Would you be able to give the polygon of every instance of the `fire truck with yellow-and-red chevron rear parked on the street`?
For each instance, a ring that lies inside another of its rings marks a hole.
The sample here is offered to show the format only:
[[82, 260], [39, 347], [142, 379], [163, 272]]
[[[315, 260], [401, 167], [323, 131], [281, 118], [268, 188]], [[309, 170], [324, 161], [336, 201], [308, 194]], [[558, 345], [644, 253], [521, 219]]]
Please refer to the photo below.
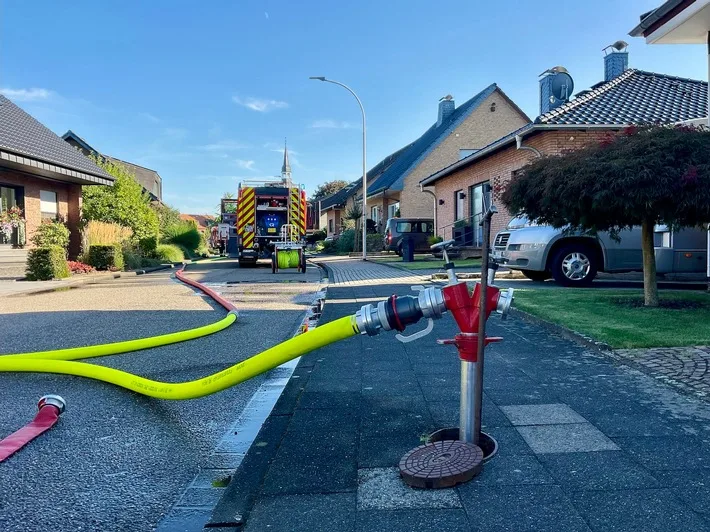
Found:
[[[278, 242], [300, 242], [306, 234], [306, 191], [290, 176], [243, 181], [237, 195], [239, 266], [269, 259]], [[284, 226], [286, 226], [284, 228]], [[285, 230], [284, 230], [285, 229]]]

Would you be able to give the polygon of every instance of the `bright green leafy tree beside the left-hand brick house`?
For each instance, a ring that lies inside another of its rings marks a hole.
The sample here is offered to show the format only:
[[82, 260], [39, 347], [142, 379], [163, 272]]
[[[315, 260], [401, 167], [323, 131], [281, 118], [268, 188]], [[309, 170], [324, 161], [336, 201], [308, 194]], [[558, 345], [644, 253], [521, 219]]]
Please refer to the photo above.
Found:
[[158, 215], [150, 206], [150, 196], [136, 181], [135, 175], [120, 163], [93, 156], [93, 161], [114, 177], [111, 187], [84, 187], [84, 221], [117, 223], [133, 230], [136, 239], [155, 235]]

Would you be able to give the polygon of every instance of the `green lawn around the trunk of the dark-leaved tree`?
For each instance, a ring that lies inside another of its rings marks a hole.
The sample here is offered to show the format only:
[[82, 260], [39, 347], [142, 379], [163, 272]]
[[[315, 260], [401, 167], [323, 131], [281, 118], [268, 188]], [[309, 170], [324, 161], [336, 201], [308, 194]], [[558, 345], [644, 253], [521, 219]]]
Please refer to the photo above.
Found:
[[614, 348], [710, 345], [710, 294], [661, 292], [661, 303], [681, 308], [644, 308], [641, 290], [522, 289], [514, 306], [605, 342]]

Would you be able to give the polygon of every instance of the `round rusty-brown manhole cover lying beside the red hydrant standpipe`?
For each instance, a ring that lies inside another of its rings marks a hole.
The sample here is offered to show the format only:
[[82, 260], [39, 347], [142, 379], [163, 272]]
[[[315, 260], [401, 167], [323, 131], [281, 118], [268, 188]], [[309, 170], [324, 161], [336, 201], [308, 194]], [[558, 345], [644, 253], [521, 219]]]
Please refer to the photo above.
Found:
[[413, 488], [450, 488], [468, 482], [482, 469], [481, 448], [458, 440], [420, 445], [399, 461], [402, 480]]

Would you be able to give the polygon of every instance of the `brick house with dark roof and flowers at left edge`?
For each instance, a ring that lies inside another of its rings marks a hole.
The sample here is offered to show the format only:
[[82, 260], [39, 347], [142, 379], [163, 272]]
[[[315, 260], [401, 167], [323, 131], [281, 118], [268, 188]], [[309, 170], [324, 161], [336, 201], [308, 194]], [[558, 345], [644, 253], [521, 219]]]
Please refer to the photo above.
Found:
[[[81, 187], [112, 184], [111, 175], [0, 96], [0, 211], [23, 209], [28, 247], [42, 220], [61, 219], [71, 231], [69, 254], [76, 256]], [[17, 238], [15, 231], [11, 242], [0, 243], [0, 262], [5, 265], [24, 264], [23, 251], [12, 249]]]

